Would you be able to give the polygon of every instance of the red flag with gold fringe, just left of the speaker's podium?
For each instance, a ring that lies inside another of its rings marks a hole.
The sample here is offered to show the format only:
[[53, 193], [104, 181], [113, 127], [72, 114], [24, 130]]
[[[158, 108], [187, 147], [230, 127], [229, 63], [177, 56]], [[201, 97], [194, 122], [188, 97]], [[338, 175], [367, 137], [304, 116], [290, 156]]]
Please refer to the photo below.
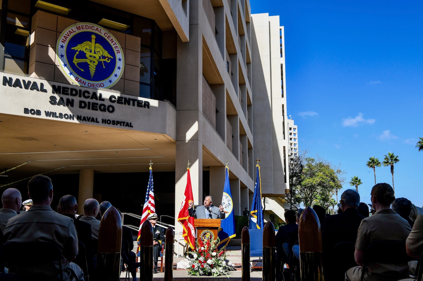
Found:
[[192, 196], [190, 168], [187, 168], [187, 170], [187, 187], [185, 187], [184, 198], [182, 199], [181, 209], [179, 210], [178, 222], [180, 222], [182, 224], [182, 227], [184, 228], [182, 237], [185, 238], [185, 241], [190, 246], [190, 248], [194, 249], [194, 217], [190, 216], [190, 214], [188, 213], [188, 204], [194, 202], [194, 197]]

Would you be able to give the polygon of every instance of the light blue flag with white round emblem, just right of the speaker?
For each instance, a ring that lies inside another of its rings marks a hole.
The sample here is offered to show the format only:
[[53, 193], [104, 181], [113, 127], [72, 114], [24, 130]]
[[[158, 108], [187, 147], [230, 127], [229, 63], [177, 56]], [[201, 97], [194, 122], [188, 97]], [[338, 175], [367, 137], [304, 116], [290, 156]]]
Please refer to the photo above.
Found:
[[233, 215], [233, 201], [231, 186], [229, 185], [229, 172], [228, 166], [226, 166], [226, 177], [225, 177], [225, 186], [223, 187], [223, 197], [222, 197], [222, 206], [225, 212], [225, 219], [220, 221], [221, 230], [217, 234], [220, 239], [218, 248], [222, 248], [228, 245], [229, 240], [236, 236], [235, 233], [235, 216]]

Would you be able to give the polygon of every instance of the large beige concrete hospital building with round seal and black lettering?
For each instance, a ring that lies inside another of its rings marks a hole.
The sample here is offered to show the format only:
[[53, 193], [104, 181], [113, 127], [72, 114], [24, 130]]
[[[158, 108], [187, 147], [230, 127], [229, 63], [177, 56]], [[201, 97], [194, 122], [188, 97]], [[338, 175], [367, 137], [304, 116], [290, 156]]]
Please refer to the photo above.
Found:
[[94, 197], [140, 214], [151, 161], [157, 213], [175, 217], [187, 163], [195, 204], [210, 194], [220, 205], [229, 162], [242, 215], [255, 159], [264, 197], [289, 188], [279, 16], [251, 15], [248, 0], [0, 3], [1, 189], [26, 194], [43, 173], [53, 179], [53, 205], [72, 194], [78, 213]]

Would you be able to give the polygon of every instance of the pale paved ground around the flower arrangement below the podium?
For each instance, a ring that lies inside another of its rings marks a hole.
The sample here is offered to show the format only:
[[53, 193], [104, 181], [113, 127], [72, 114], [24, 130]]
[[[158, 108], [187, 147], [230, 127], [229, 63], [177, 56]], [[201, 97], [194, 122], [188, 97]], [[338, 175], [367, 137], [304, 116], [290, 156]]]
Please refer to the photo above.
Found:
[[[234, 271], [231, 271], [230, 274], [228, 276], [219, 276], [219, 277], [213, 277], [213, 276], [202, 276], [202, 277], [198, 277], [198, 276], [191, 276], [188, 275], [188, 272], [186, 269], [174, 269], [173, 270], [173, 280], [174, 281], [204, 281], [205, 279], [207, 281], [238, 281], [241, 280], [241, 247], [228, 247], [227, 248], [229, 253], [228, 253], [228, 259], [230, 262], [232, 262], [235, 265], [235, 269]], [[179, 262], [181, 259], [181, 257], [174, 257], [173, 258], [173, 264], [175, 265], [173, 268], [176, 268], [176, 263]], [[251, 260], [253, 260], [254, 258], [251, 258]], [[159, 262], [160, 265], [160, 262]], [[160, 270], [160, 268], [159, 268]], [[121, 280], [125, 279], [125, 273], [126, 272], [122, 272], [121, 273]], [[129, 274], [130, 275], [130, 274]], [[254, 270], [253, 272], [250, 273], [250, 280], [251, 281], [259, 281], [262, 280], [262, 272], [261, 271], [257, 271]], [[162, 281], [164, 280], [165, 277], [165, 273], [157, 273], [153, 275], [153, 279], [157, 280], [157, 281]], [[139, 273], [137, 274], [137, 278], [139, 280]], [[132, 281], [132, 278], [129, 279], [130, 281]]]

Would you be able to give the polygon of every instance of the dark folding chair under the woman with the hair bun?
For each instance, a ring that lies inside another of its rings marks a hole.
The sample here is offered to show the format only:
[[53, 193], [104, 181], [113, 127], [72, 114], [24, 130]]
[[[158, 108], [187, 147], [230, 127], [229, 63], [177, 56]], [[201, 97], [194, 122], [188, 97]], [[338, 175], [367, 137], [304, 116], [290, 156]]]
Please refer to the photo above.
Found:
[[[384, 241], [376, 242], [367, 247], [364, 252], [363, 270], [361, 272], [361, 281], [364, 279], [364, 273], [372, 262], [380, 262], [389, 265], [407, 263], [412, 260], [405, 249], [405, 241]], [[394, 275], [393, 273], [391, 273]], [[402, 276], [392, 276], [400, 279]]]

